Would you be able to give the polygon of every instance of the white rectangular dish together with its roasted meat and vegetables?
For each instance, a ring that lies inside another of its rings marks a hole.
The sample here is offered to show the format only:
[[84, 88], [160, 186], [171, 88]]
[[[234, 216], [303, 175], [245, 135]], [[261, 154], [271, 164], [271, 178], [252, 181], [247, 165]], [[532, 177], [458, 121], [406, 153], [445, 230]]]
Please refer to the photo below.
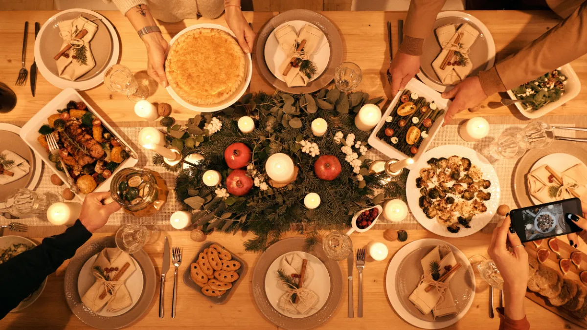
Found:
[[[46, 134], [59, 137], [59, 156], [49, 153]], [[69, 186], [59, 157], [64, 160], [80, 188], [77, 196], [82, 200], [87, 193], [109, 191], [113, 174], [138, 161], [136, 151], [71, 88], [63, 90], [39, 110], [22, 127], [21, 137]]]

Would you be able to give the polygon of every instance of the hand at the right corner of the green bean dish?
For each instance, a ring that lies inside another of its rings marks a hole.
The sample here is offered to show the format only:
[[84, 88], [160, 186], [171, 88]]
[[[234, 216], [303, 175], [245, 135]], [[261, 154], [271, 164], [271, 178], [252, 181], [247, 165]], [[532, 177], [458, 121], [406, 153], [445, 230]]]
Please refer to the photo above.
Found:
[[487, 99], [478, 76], [466, 78], [453, 89], [442, 93], [442, 97], [443, 99], [453, 99], [454, 97], [453, 102], [448, 106], [443, 126], [448, 124], [457, 113], [474, 107]]

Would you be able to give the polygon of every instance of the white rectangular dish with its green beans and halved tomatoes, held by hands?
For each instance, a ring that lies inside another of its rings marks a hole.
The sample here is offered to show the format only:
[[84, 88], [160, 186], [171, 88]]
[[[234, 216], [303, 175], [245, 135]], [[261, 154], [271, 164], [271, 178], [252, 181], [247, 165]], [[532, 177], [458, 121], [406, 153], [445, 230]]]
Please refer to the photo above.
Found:
[[449, 104], [436, 90], [412, 79], [394, 97], [371, 133], [369, 144], [391, 158], [411, 157], [411, 169], [440, 129]]

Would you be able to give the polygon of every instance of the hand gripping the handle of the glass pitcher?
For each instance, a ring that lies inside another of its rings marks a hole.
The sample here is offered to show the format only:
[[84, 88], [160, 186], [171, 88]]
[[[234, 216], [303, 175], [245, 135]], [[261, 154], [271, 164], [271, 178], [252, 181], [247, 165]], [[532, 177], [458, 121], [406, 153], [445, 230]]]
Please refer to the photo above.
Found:
[[119, 203], [102, 204], [102, 201], [108, 197], [110, 197], [110, 191], [104, 191], [103, 193], [87, 194], [86, 199], [83, 200], [79, 221], [90, 233], [104, 227], [110, 214], [120, 210]]

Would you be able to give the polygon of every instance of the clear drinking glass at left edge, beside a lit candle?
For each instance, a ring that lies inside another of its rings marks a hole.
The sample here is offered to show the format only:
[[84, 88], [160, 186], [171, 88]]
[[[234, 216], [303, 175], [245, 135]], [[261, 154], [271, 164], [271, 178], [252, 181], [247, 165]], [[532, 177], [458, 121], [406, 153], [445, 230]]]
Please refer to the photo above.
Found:
[[29, 218], [47, 210], [51, 204], [61, 201], [63, 198], [55, 191], [39, 194], [27, 188], [18, 188], [0, 203], [0, 209], [15, 217]]

